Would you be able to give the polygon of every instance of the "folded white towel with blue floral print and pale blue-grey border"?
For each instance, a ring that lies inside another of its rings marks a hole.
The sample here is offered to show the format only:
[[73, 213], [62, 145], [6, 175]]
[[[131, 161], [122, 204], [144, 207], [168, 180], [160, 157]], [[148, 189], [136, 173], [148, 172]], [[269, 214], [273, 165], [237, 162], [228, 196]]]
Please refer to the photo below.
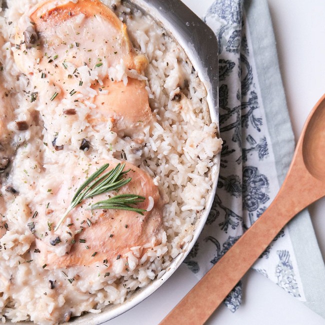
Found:
[[[266, 0], [216, 0], [205, 22], [219, 43], [223, 139], [218, 189], [185, 263], [200, 278], [274, 199], [294, 138]], [[274, 239], [253, 268], [325, 318], [325, 267], [307, 211]], [[235, 311], [240, 284], [226, 299]]]

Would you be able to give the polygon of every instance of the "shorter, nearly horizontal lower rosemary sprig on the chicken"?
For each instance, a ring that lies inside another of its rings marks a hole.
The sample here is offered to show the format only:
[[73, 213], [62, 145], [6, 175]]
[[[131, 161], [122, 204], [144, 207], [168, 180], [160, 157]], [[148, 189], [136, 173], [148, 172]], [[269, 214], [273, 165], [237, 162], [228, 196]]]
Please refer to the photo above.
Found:
[[144, 200], [145, 198], [143, 196], [139, 196], [135, 194], [115, 195], [107, 200], [99, 201], [97, 203], [92, 204], [86, 210], [120, 209], [120, 210], [134, 211], [143, 216], [143, 212], [145, 212], [146, 210], [134, 208], [132, 207], [132, 205], [141, 203]]

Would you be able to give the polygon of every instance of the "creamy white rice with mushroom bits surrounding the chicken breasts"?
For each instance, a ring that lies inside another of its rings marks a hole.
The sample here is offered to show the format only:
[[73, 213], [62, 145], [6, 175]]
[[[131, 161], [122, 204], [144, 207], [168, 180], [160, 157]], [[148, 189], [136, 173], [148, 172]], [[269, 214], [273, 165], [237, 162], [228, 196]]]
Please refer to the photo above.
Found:
[[[211, 189], [209, 171], [221, 140], [216, 138], [216, 125], [210, 122], [206, 90], [183, 50], [150, 17], [114, 0], [103, 2], [116, 6], [134, 48], [149, 62], [144, 76], [125, 69], [123, 62], [108, 67], [109, 77], [114, 80], [127, 82], [131, 77], [146, 82], [155, 119], [144, 129], [143, 141], [109, 131], [109, 123], [89, 127], [85, 116], [92, 104], [86, 100], [68, 123], [66, 115], [59, 112], [63, 107], [72, 107], [70, 99], [43, 107], [35, 123], [35, 112], [43, 103], [41, 99], [31, 102], [34, 85], [18, 70], [13, 52], [18, 20], [38, 1], [7, 2], [8, 8], [0, 15], [0, 81], [14, 108], [6, 132], [15, 152], [9, 174], [1, 174], [4, 204], [0, 206], [0, 227], [4, 235], [0, 238], [0, 319], [4, 323], [31, 320], [55, 324], [83, 312], [99, 313], [108, 304], [120, 304], [136, 288], [163, 275], [192, 239], [193, 224]], [[100, 82], [100, 73], [84, 72], [80, 97], [92, 95], [93, 89], [87, 83]], [[19, 131], [16, 121], [26, 121], [30, 127]], [[53, 150], [53, 135], [55, 145], [63, 145], [64, 150]], [[84, 138], [91, 143], [91, 150], [79, 149]], [[43, 204], [45, 208], [47, 202], [52, 202], [51, 192], [46, 189], [64, 182], [65, 170], [73, 170], [80, 163], [93, 164], [98, 157], [114, 160], [121, 155], [148, 173], [159, 188], [165, 202], [161, 244], [144, 254], [143, 247], [131, 248], [109, 266], [108, 276], [102, 264], [56, 270], [36, 265], [35, 237], [27, 226], [32, 218], [31, 207]], [[42, 176], [43, 169], [46, 177]], [[37, 197], [30, 190], [32, 183], [38, 189]], [[8, 192], [8, 186], [19, 194]], [[67, 279], [77, 280], [69, 283]], [[51, 290], [52, 282], [59, 289]]]

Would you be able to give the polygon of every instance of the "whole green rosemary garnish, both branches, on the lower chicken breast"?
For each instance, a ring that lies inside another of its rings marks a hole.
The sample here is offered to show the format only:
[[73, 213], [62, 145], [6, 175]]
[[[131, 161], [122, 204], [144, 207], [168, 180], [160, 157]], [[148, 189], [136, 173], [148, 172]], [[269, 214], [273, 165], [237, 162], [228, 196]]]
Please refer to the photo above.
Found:
[[[123, 175], [130, 171], [130, 169], [123, 171], [125, 164], [121, 165], [119, 163], [116, 165], [116, 167], [101, 175], [108, 166], [109, 164], [104, 164], [81, 184], [81, 186], [75, 192], [67, 210], [59, 220], [58, 224], [55, 226], [54, 231], [59, 228], [68, 213], [83, 200], [102, 193], [117, 190], [131, 181], [130, 177], [123, 178]], [[123, 209], [134, 211], [143, 215], [145, 210], [134, 208], [132, 205], [143, 202], [144, 199], [144, 197], [134, 194], [116, 195], [108, 200], [99, 201], [93, 204], [89, 209]]]

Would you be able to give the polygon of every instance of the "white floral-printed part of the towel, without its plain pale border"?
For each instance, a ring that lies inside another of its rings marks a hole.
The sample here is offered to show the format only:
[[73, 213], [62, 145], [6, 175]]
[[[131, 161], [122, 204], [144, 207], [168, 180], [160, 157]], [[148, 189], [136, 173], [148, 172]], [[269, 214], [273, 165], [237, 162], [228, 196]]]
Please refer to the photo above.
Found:
[[[243, 17], [242, 0], [215, 0], [205, 16], [205, 22], [218, 39], [219, 128], [223, 147], [211, 212], [199, 240], [185, 260], [190, 270], [200, 277], [265, 211], [278, 190]], [[291, 295], [300, 297], [290, 260], [291, 247], [285, 237], [282, 230], [260, 257], [262, 265], [255, 268]], [[239, 283], [225, 300], [232, 312], [239, 307], [241, 297]]]

